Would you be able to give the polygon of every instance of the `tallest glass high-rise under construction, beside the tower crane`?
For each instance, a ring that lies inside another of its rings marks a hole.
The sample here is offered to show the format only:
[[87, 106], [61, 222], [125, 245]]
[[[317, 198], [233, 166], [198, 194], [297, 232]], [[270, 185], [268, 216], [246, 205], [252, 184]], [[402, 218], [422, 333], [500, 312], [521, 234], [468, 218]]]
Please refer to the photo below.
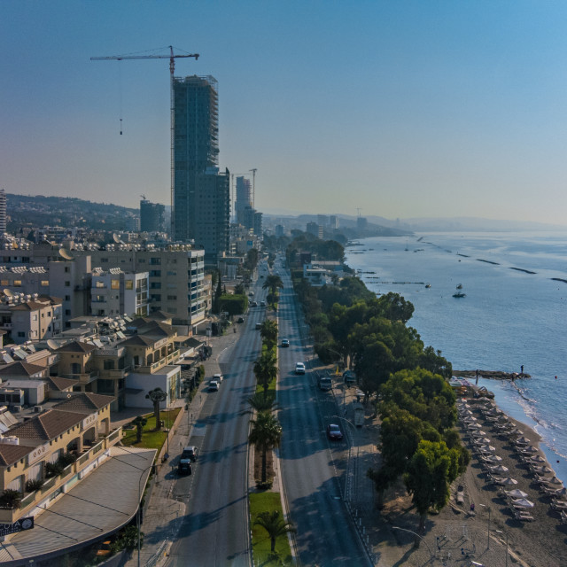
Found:
[[216, 261], [229, 250], [230, 221], [229, 170], [218, 170], [218, 83], [175, 77], [173, 97], [173, 236], [194, 240]]

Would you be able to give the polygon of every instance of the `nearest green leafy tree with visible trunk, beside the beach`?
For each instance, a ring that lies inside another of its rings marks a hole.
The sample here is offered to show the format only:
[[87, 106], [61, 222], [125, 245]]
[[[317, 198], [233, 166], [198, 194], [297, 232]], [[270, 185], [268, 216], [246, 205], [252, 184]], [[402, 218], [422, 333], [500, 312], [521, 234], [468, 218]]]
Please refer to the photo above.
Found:
[[[420, 441], [408, 463], [404, 481], [419, 514], [418, 533], [423, 533], [429, 509], [439, 511], [447, 504], [449, 485], [458, 474], [457, 460], [457, 451], [447, 448], [444, 441]], [[418, 538], [415, 547], [419, 547]]]

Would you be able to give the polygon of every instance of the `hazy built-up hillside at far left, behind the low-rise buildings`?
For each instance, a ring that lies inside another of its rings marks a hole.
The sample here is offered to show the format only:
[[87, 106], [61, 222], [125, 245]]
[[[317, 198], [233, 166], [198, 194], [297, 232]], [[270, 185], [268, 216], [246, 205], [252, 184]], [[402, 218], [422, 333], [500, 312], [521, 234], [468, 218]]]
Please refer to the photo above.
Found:
[[74, 197], [44, 197], [6, 193], [8, 232], [34, 227], [80, 227], [92, 230], [132, 229], [138, 209], [95, 203]]

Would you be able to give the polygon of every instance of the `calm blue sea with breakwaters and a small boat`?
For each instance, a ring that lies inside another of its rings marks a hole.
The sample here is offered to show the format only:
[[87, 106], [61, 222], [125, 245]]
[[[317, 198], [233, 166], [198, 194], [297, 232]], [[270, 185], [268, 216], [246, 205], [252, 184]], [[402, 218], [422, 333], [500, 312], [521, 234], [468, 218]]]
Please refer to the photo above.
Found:
[[567, 482], [567, 231], [428, 232], [357, 244], [346, 247], [346, 263], [370, 291], [411, 301], [408, 325], [455, 370], [524, 367], [530, 378], [478, 384], [541, 436]]

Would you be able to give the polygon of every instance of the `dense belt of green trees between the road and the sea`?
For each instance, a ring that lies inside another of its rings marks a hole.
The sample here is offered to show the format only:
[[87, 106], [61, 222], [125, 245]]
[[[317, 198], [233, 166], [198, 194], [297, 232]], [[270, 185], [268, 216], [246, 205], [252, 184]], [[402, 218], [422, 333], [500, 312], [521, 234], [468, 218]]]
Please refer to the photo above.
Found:
[[[293, 252], [288, 247], [288, 258]], [[408, 326], [414, 306], [400, 294], [377, 298], [350, 276], [321, 288], [298, 277], [294, 287], [321, 361], [354, 369], [365, 401], [382, 418], [382, 466], [368, 471], [379, 505], [402, 478], [422, 532], [428, 511], [447, 504], [450, 483], [470, 462], [454, 429], [451, 363]]]

